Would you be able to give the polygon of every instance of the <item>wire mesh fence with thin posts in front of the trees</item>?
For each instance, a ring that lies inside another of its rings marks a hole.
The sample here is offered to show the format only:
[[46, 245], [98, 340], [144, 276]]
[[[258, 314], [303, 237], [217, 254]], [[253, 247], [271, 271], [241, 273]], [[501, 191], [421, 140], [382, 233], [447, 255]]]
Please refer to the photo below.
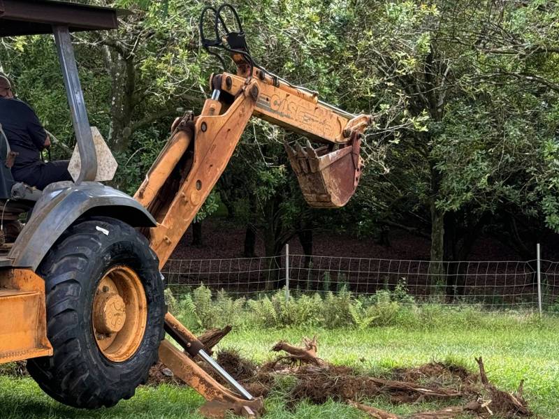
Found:
[[[543, 311], [559, 312], [559, 262], [540, 260]], [[169, 260], [163, 271], [175, 296], [204, 284], [233, 296], [289, 293], [356, 295], [391, 291], [409, 304], [476, 304], [487, 309], [538, 309], [537, 260], [452, 261], [289, 255]]]

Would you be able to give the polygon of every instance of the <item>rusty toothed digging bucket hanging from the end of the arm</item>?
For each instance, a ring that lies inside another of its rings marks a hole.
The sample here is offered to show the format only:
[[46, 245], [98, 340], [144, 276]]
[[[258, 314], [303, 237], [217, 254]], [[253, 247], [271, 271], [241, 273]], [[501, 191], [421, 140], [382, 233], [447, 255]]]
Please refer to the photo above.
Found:
[[343, 207], [354, 195], [363, 166], [359, 133], [352, 133], [349, 143], [336, 150], [329, 145], [314, 149], [308, 140], [304, 148], [285, 143], [285, 149], [311, 207]]

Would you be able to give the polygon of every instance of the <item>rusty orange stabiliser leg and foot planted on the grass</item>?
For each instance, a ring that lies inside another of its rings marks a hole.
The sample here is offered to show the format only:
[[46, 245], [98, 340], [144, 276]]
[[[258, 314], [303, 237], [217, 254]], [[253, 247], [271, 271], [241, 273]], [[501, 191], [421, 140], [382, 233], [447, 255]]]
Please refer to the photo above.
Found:
[[208, 401], [200, 409], [201, 413], [208, 418], [223, 419], [229, 413], [247, 415], [249, 412], [256, 417], [263, 411], [261, 398], [249, 401], [235, 395], [231, 390], [215, 381], [194, 360], [175, 348], [169, 341], [161, 342], [159, 360]]

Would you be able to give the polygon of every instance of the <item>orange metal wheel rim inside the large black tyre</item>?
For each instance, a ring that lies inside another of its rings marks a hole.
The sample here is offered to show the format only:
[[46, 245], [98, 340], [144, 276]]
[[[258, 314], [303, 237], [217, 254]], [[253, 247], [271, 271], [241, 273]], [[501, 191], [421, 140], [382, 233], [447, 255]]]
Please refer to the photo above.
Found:
[[147, 300], [138, 274], [112, 267], [99, 282], [92, 309], [93, 332], [101, 353], [124, 362], [140, 347], [147, 325]]

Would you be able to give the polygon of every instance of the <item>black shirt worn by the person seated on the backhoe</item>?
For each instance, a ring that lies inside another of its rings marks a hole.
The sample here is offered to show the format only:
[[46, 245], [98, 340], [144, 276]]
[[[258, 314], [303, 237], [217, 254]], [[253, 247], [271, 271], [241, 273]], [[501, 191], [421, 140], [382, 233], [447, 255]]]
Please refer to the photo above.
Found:
[[47, 133], [34, 110], [19, 99], [0, 98], [0, 124], [15, 158], [12, 172], [25, 172], [40, 165], [41, 150], [45, 148]]

